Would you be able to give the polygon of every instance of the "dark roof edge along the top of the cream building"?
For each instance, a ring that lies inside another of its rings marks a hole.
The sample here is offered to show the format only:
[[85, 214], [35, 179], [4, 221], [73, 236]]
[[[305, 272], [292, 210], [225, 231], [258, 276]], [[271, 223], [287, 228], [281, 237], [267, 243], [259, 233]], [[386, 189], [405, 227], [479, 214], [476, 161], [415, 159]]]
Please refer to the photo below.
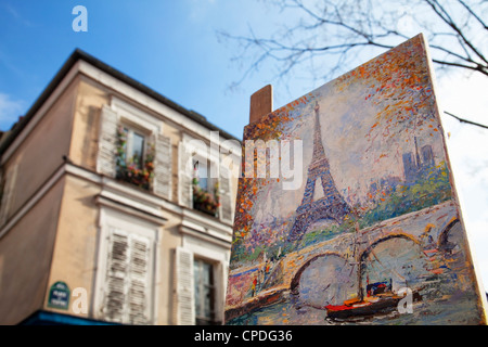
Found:
[[236, 140], [241, 142], [240, 139], [235, 138], [234, 136], [230, 134], [226, 130], [217, 127], [216, 125], [211, 124], [207, 120], [203, 115], [198, 114], [197, 112], [194, 112], [192, 110], [188, 110], [180, 104], [169, 100], [168, 98], [162, 95], [160, 93], [156, 92], [155, 90], [151, 89], [150, 87], [137, 81], [136, 79], [127, 76], [126, 74], [117, 70], [116, 68], [110, 66], [108, 64], [105, 64], [104, 62], [100, 61], [99, 59], [94, 57], [93, 55], [88, 54], [87, 52], [76, 49], [69, 57], [66, 60], [66, 62], [63, 64], [61, 69], [57, 72], [57, 74], [53, 77], [53, 79], [50, 81], [48, 87], [42, 91], [42, 93], [37, 98], [36, 102], [33, 104], [33, 106], [27, 111], [25, 116], [21, 117], [20, 120], [14, 124], [12, 129], [9, 131], [5, 131], [2, 137], [0, 137], [0, 154], [5, 152], [5, 150], [10, 146], [10, 144], [13, 142], [13, 140], [21, 133], [21, 131], [26, 127], [26, 125], [30, 121], [30, 119], [34, 117], [34, 115], [37, 113], [37, 111], [42, 106], [42, 104], [48, 100], [48, 98], [51, 95], [51, 93], [55, 90], [55, 88], [61, 83], [63, 78], [68, 74], [68, 72], [72, 69], [72, 67], [78, 62], [78, 61], [85, 61], [94, 67], [101, 69], [102, 72], [119, 79], [120, 81], [129, 85], [130, 87], [145, 93], [146, 95], [157, 100], [158, 102], [178, 111], [179, 113], [188, 116], [192, 120], [196, 121], [197, 124], [201, 124], [202, 126], [213, 130], [213, 131], [219, 131], [220, 136], [228, 139], [228, 140]]

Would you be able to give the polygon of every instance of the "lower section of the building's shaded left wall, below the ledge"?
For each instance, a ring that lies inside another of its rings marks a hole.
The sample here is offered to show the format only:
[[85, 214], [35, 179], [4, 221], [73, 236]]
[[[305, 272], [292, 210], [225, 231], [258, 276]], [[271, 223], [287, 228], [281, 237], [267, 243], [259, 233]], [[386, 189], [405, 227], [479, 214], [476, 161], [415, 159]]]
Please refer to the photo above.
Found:
[[64, 180], [0, 239], [0, 324], [17, 324], [42, 308]]

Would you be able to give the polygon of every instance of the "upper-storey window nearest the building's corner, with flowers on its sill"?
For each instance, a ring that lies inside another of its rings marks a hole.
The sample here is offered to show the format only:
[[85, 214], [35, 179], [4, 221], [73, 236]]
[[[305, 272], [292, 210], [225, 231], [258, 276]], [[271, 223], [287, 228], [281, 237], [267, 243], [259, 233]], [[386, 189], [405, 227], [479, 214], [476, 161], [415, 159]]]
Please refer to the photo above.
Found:
[[154, 146], [146, 137], [130, 127], [117, 130], [116, 178], [149, 190], [153, 179]]

